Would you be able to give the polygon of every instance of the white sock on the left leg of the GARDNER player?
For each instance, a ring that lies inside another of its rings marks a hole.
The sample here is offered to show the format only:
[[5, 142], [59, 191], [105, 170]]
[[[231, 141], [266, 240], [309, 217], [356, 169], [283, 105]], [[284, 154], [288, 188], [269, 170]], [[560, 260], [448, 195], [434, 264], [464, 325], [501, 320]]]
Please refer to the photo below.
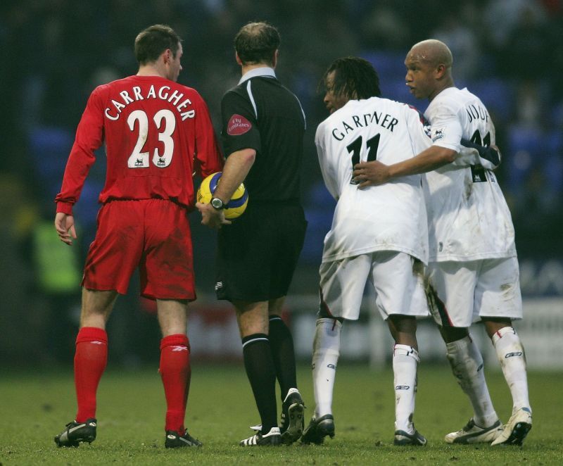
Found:
[[312, 380], [315, 418], [332, 414], [332, 392], [340, 355], [342, 324], [330, 318], [317, 319], [312, 351]]

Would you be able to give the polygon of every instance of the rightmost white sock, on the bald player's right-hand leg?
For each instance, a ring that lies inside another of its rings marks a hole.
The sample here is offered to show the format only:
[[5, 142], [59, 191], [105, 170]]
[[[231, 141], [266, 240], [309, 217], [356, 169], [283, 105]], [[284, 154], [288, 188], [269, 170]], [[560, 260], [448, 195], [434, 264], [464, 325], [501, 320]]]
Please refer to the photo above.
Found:
[[512, 395], [512, 413], [530, 408], [526, 357], [519, 336], [512, 327], [502, 327], [493, 335], [493, 346]]

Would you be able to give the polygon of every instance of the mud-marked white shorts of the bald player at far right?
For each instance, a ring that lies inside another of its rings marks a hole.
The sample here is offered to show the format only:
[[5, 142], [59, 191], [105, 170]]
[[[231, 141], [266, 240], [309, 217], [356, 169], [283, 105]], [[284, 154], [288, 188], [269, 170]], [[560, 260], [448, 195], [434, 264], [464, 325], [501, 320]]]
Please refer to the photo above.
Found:
[[522, 318], [518, 259], [429, 263], [426, 292], [438, 325], [470, 327], [481, 317]]

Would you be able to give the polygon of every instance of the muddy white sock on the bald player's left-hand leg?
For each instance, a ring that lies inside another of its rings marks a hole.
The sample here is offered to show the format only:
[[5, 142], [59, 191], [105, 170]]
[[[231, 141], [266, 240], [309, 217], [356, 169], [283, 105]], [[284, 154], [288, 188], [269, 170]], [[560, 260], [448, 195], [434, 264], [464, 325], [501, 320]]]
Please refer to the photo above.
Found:
[[446, 357], [457, 382], [469, 396], [475, 424], [489, 427], [498, 420], [488, 393], [483, 372], [483, 358], [470, 336], [446, 344]]

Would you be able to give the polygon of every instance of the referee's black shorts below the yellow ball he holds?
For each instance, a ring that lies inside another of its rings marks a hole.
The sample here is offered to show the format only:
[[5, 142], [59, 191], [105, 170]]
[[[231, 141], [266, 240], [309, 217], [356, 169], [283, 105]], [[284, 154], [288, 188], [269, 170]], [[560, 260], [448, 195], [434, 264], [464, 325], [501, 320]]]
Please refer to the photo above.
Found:
[[217, 298], [256, 303], [286, 296], [305, 229], [298, 204], [249, 202], [241, 217], [219, 230]]

